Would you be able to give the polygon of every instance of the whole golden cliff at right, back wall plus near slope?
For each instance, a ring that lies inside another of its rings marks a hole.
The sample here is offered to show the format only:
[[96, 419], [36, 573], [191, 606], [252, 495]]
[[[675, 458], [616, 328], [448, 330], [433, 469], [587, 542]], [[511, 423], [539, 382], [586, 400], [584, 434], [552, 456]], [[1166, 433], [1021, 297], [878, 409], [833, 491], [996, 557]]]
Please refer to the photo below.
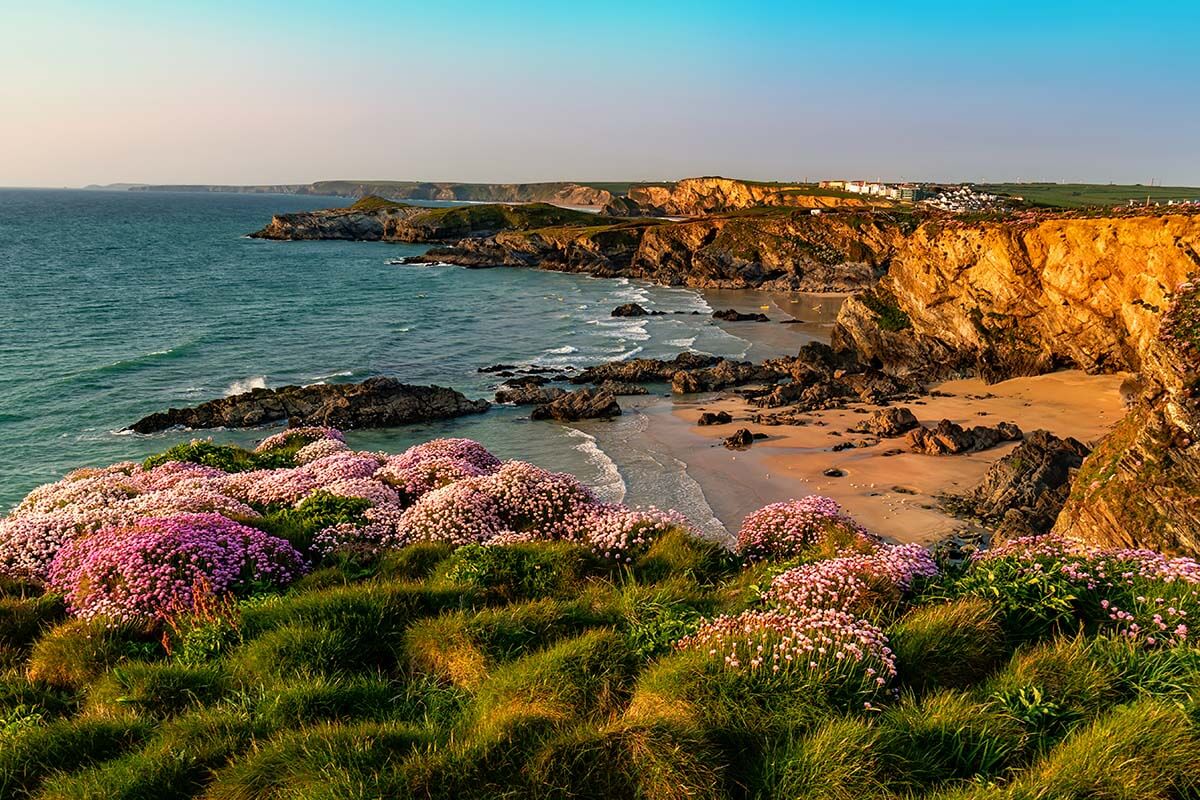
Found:
[[1200, 552], [1200, 216], [926, 223], [836, 343], [916, 375], [1129, 371], [1130, 411], [1076, 475], [1057, 533]]

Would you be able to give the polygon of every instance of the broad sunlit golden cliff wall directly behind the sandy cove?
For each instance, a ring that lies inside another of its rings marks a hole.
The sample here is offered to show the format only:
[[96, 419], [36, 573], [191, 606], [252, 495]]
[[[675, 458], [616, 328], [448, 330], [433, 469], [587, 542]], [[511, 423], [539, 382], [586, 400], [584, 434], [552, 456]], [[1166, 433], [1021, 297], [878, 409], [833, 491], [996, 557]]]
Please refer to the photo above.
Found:
[[1200, 216], [925, 222], [835, 341], [899, 374], [1135, 371], [1198, 266]]

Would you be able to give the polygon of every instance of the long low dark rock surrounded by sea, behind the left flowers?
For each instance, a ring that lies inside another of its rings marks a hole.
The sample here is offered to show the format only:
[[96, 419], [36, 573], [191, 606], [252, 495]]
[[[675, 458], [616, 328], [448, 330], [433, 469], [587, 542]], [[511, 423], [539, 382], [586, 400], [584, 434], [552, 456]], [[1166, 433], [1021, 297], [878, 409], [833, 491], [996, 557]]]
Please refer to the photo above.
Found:
[[191, 408], [173, 408], [138, 420], [130, 429], [155, 433], [167, 428], [250, 428], [287, 420], [290, 425], [335, 428], [385, 428], [426, 420], [480, 414], [491, 407], [442, 386], [413, 386], [395, 378], [368, 378], [360, 384], [317, 384], [253, 389]]

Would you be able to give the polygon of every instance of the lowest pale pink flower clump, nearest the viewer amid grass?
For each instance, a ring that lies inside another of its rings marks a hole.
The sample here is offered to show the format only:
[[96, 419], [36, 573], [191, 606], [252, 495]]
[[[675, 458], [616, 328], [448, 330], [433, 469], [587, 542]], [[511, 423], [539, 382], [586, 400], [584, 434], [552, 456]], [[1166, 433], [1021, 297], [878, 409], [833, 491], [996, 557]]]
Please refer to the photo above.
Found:
[[718, 616], [682, 639], [726, 669], [779, 684], [838, 686], [866, 702], [895, 678], [887, 637], [839, 610], [749, 610]]

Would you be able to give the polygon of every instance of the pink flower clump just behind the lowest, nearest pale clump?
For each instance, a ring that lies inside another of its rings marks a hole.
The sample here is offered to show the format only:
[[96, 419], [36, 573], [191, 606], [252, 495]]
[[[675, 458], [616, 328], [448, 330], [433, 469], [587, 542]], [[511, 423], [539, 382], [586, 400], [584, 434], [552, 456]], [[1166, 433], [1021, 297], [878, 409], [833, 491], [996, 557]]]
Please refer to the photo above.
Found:
[[894, 607], [918, 577], [934, 577], [937, 565], [920, 545], [883, 545], [804, 564], [775, 576], [766, 599], [797, 613], [834, 609], [865, 615]]

